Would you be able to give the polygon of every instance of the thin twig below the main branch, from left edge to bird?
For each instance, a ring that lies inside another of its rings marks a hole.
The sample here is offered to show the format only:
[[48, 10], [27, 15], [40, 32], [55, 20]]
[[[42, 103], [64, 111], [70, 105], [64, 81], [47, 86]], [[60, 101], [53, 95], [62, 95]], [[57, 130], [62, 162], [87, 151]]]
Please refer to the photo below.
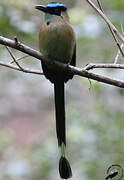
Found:
[[[17, 71], [22, 71], [19, 67], [17, 66], [14, 66], [14, 65], [11, 65], [9, 63], [5, 63], [3, 61], [0, 61], [0, 65], [1, 66], [4, 66], [4, 67], [7, 67], [7, 68], [10, 68], [10, 69], [14, 69], [14, 70], [17, 70]], [[40, 71], [37, 71], [37, 70], [34, 70], [34, 69], [24, 69], [23, 68], [23, 72], [25, 73], [32, 73], [32, 74], [38, 74], [38, 75], [43, 75], [43, 73], [41, 73]]]

